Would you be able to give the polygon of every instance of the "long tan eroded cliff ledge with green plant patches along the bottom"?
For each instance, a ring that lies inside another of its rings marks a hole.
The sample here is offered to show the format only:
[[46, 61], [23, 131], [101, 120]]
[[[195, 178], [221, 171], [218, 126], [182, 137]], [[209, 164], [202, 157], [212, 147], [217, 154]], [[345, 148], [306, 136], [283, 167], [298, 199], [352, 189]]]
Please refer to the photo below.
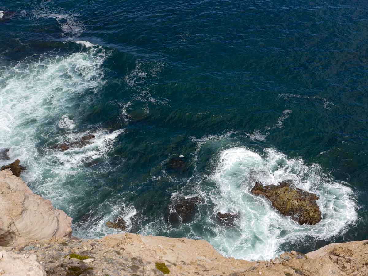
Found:
[[56, 276], [163, 275], [158, 268], [175, 276], [368, 276], [368, 241], [330, 244], [305, 255], [291, 251], [255, 262], [226, 258], [206, 241], [131, 233], [98, 240], [53, 238], [13, 251], [25, 258], [35, 255], [47, 275]]

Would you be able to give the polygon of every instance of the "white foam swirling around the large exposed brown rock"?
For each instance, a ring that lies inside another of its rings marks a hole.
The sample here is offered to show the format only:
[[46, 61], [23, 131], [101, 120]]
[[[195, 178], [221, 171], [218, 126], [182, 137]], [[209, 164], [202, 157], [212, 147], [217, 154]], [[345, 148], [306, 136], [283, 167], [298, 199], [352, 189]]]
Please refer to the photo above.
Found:
[[[215, 228], [209, 242], [222, 254], [240, 259], [270, 259], [280, 254], [283, 243], [304, 238], [326, 239], [343, 233], [357, 220], [356, 203], [346, 183], [322, 172], [317, 164], [307, 166], [301, 159], [288, 159], [275, 149], [262, 155], [234, 147], [221, 152], [212, 175], [217, 190], [210, 197], [214, 212], [239, 213], [236, 229]], [[314, 192], [322, 212], [315, 226], [299, 225], [276, 212], [268, 200], [250, 194], [256, 180], [268, 184], [291, 179], [298, 188]]]

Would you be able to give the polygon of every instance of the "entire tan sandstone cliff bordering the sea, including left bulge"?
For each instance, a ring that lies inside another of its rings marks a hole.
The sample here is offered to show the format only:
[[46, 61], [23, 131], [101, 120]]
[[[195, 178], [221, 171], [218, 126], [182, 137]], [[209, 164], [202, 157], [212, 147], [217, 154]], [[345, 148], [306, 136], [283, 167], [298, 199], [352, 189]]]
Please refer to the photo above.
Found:
[[68, 236], [70, 217], [10, 170], [0, 173], [0, 275], [367, 275], [368, 240], [270, 261], [226, 258], [206, 241], [115, 234]]

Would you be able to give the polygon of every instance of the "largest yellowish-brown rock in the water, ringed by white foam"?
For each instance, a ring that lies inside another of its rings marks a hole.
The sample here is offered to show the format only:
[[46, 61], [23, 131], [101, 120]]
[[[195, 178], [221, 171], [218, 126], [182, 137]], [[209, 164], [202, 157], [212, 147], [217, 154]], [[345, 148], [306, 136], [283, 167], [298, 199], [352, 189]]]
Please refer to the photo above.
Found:
[[292, 181], [282, 181], [278, 186], [262, 185], [258, 181], [251, 190], [254, 195], [263, 195], [284, 216], [291, 216], [299, 224], [314, 225], [322, 219], [316, 194], [296, 188]]

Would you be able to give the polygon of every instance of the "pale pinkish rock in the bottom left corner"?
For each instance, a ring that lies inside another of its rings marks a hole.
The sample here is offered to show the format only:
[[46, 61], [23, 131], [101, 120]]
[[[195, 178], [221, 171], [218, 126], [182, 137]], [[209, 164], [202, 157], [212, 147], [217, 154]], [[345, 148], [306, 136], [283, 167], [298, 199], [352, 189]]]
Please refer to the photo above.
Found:
[[10, 251], [0, 251], [0, 275], [2, 276], [46, 276], [37, 256], [19, 255]]

